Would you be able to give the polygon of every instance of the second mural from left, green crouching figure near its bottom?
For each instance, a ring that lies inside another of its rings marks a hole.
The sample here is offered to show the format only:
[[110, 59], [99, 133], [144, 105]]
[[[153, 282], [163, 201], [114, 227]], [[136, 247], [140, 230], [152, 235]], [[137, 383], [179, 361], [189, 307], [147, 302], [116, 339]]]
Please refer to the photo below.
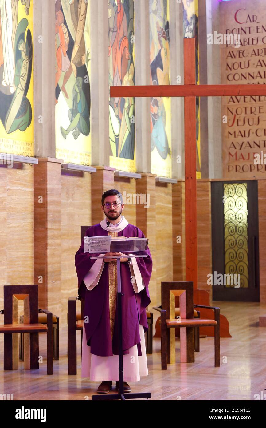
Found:
[[56, 157], [91, 164], [88, 0], [56, 0]]

